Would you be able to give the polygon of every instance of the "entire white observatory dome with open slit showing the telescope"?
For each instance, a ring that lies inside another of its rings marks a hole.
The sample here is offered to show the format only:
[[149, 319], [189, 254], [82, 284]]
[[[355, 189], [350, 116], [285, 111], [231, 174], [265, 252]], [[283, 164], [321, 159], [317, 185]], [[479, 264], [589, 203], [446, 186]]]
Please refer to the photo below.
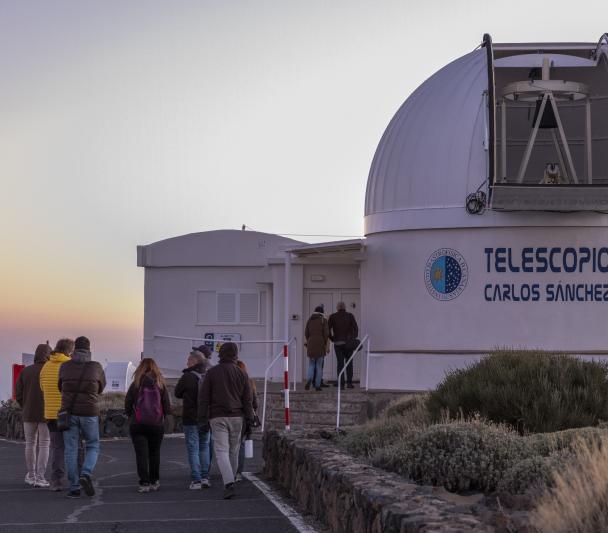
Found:
[[[543, 61], [549, 81], [539, 77]], [[606, 226], [606, 67], [608, 34], [597, 45], [492, 45], [489, 36], [484, 36], [480, 48], [420, 85], [390, 121], [369, 173], [365, 234], [432, 228]], [[540, 96], [524, 98], [524, 92], [547, 84], [558, 84], [554, 90], [563, 122], [559, 142], [551, 141], [548, 133], [557, 129], [548, 126], [540, 126], [547, 129], [536, 136], [534, 105], [540, 102], [534, 99]], [[560, 100], [563, 84], [585, 88], [588, 94], [579, 95], [585, 100]], [[557, 155], [554, 146], [560, 152]], [[563, 174], [570, 176], [567, 187], [560, 182], [551, 188], [542, 182], [547, 162], [559, 164]], [[467, 212], [467, 197], [475, 194], [482, 196], [482, 205]], [[558, 212], [571, 216], [556, 216]]]

